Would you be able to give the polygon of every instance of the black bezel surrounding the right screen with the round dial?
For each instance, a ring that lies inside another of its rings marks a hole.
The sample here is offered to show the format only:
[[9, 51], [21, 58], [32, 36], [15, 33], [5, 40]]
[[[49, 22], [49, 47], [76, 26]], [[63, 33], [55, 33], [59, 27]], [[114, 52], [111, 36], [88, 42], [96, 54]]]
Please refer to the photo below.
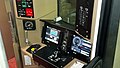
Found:
[[[70, 43], [68, 44], [68, 45], [69, 45], [69, 46], [68, 46], [68, 47], [69, 47], [69, 48], [68, 48], [69, 53], [72, 54], [73, 57], [75, 57], [75, 58], [77, 58], [77, 59], [79, 59], [79, 60], [82, 60], [82, 61], [84, 61], [84, 62], [86, 62], [86, 63], [89, 63], [89, 62], [90, 62], [91, 51], [90, 51], [89, 56], [85, 56], [85, 55], [83, 55], [83, 54], [81, 54], [81, 53], [77, 53], [77, 52], [71, 50], [72, 41], [73, 41], [73, 35], [76, 35], [76, 36], [81, 37], [81, 36], [78, 35], [76, 32], [70, 34], [70, 39], [69, 39]], [[83, 37], [81, 37], [81, 38], [83, 38]], [[91, 46], [91, 49], [92, 49], [92, 46]], [[76, 53], [76, 54], [75, 54], [75, 53]]]

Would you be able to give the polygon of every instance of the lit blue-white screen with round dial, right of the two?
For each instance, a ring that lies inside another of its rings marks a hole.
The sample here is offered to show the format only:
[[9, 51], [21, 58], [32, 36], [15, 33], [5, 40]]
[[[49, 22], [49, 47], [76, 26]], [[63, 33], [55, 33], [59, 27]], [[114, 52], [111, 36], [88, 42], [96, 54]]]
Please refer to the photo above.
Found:
[[89, 57], [91, 53], [91, 44], [80, 36], [73, 35], [71, 50], [74, 54], [82, 54]]

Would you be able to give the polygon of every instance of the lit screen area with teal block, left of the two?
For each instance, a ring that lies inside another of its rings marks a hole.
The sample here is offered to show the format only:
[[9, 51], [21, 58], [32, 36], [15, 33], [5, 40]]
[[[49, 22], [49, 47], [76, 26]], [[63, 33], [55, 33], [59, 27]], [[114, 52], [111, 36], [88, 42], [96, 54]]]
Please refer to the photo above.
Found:
[[47, 26], [45, 39], [51, 41], [55, 44], [58, 44], [60, 37], [60, 30]]

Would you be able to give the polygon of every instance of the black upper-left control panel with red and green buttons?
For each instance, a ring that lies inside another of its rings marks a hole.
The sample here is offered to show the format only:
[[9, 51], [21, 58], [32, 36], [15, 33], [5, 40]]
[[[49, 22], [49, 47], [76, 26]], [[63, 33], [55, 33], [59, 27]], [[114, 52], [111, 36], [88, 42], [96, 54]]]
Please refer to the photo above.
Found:
[[18, 17], [34, 18], [32, 0], [16, 0]]

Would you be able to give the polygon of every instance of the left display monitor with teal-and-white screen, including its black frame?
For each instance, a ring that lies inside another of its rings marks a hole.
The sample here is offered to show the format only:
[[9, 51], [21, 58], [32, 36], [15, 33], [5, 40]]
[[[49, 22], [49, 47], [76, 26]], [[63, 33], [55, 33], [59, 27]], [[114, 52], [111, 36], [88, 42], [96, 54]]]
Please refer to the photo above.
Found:
[[60, 45], [62, 37], [62, 28], [55, 24], [45, 22], [42, 31], [42, 43], [46, 45]]

